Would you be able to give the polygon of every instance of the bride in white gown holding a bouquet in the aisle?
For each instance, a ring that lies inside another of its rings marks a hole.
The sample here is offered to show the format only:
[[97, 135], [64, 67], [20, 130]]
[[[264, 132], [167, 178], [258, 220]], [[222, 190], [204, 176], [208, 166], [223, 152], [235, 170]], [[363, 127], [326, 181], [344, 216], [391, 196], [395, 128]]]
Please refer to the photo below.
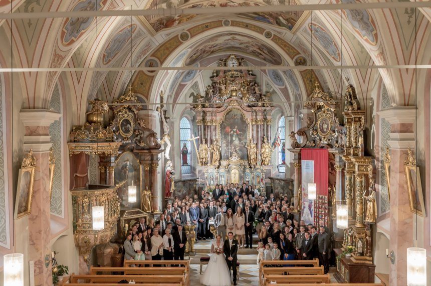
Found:
[[211, 244], [211, 254], [205, 272], [200, 277], [200, 283], [206, 286], [229, 286], [231, 285], [231, 273], [225, 261], [223, 251], [224, 241], [222, 236], [215, 236]]

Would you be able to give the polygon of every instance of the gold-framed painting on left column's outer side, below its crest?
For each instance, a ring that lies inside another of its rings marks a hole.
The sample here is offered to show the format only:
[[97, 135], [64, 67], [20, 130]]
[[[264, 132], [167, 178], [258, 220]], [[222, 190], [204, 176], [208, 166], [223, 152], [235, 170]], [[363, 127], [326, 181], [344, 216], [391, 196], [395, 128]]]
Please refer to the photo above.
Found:
[[17, 198], [15, 203], [16, 218], [21, 218], [31, 213], [35, 170], [36, 167], [20, 169], [18, 175]]

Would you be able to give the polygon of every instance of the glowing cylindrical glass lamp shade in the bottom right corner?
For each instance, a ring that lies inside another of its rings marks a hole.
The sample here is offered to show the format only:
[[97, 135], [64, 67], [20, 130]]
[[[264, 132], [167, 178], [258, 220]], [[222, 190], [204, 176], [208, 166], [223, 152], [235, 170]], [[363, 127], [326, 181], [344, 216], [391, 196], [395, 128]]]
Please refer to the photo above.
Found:
[[426, 286], [426, 249], [407, 248], [407, 286]]

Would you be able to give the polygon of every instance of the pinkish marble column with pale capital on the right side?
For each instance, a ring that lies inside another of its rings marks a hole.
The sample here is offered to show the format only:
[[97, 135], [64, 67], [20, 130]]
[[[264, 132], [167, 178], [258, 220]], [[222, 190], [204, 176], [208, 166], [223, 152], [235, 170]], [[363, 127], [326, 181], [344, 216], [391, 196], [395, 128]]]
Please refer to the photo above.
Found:
[[407, 148], [415, 152], [415, 108], [392, 107], [378, 114], [391, 124], [390, 140], [390, 239], [389, 251], [395, 252], [395, 263], [390, 264], [389, 284], [407, 284], [407, 248], [413, 246], [413, 219], [410, 211], [407, 181], [404, 172], [404, 159]]

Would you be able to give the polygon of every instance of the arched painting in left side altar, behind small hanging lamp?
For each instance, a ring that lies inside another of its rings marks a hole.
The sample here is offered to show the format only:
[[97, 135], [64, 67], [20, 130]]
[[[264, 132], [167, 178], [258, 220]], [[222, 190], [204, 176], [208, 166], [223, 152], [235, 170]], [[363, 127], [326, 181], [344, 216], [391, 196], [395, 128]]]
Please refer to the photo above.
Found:
[[[141, 165], [139, 160], [135, 157], [132, 152], [123, 152], [118, 156], [115, 164], [114, 177], [115, 184], [126, 181], [125, 187], [119, 189], [118, 195], [121, 200], [121, 207], [139, 207], [140, 204], [140, 193], [141, 193]], [[128, 186], [136, 185], [137, 190], [137, 201], [130, 203], [128, 202]]]

